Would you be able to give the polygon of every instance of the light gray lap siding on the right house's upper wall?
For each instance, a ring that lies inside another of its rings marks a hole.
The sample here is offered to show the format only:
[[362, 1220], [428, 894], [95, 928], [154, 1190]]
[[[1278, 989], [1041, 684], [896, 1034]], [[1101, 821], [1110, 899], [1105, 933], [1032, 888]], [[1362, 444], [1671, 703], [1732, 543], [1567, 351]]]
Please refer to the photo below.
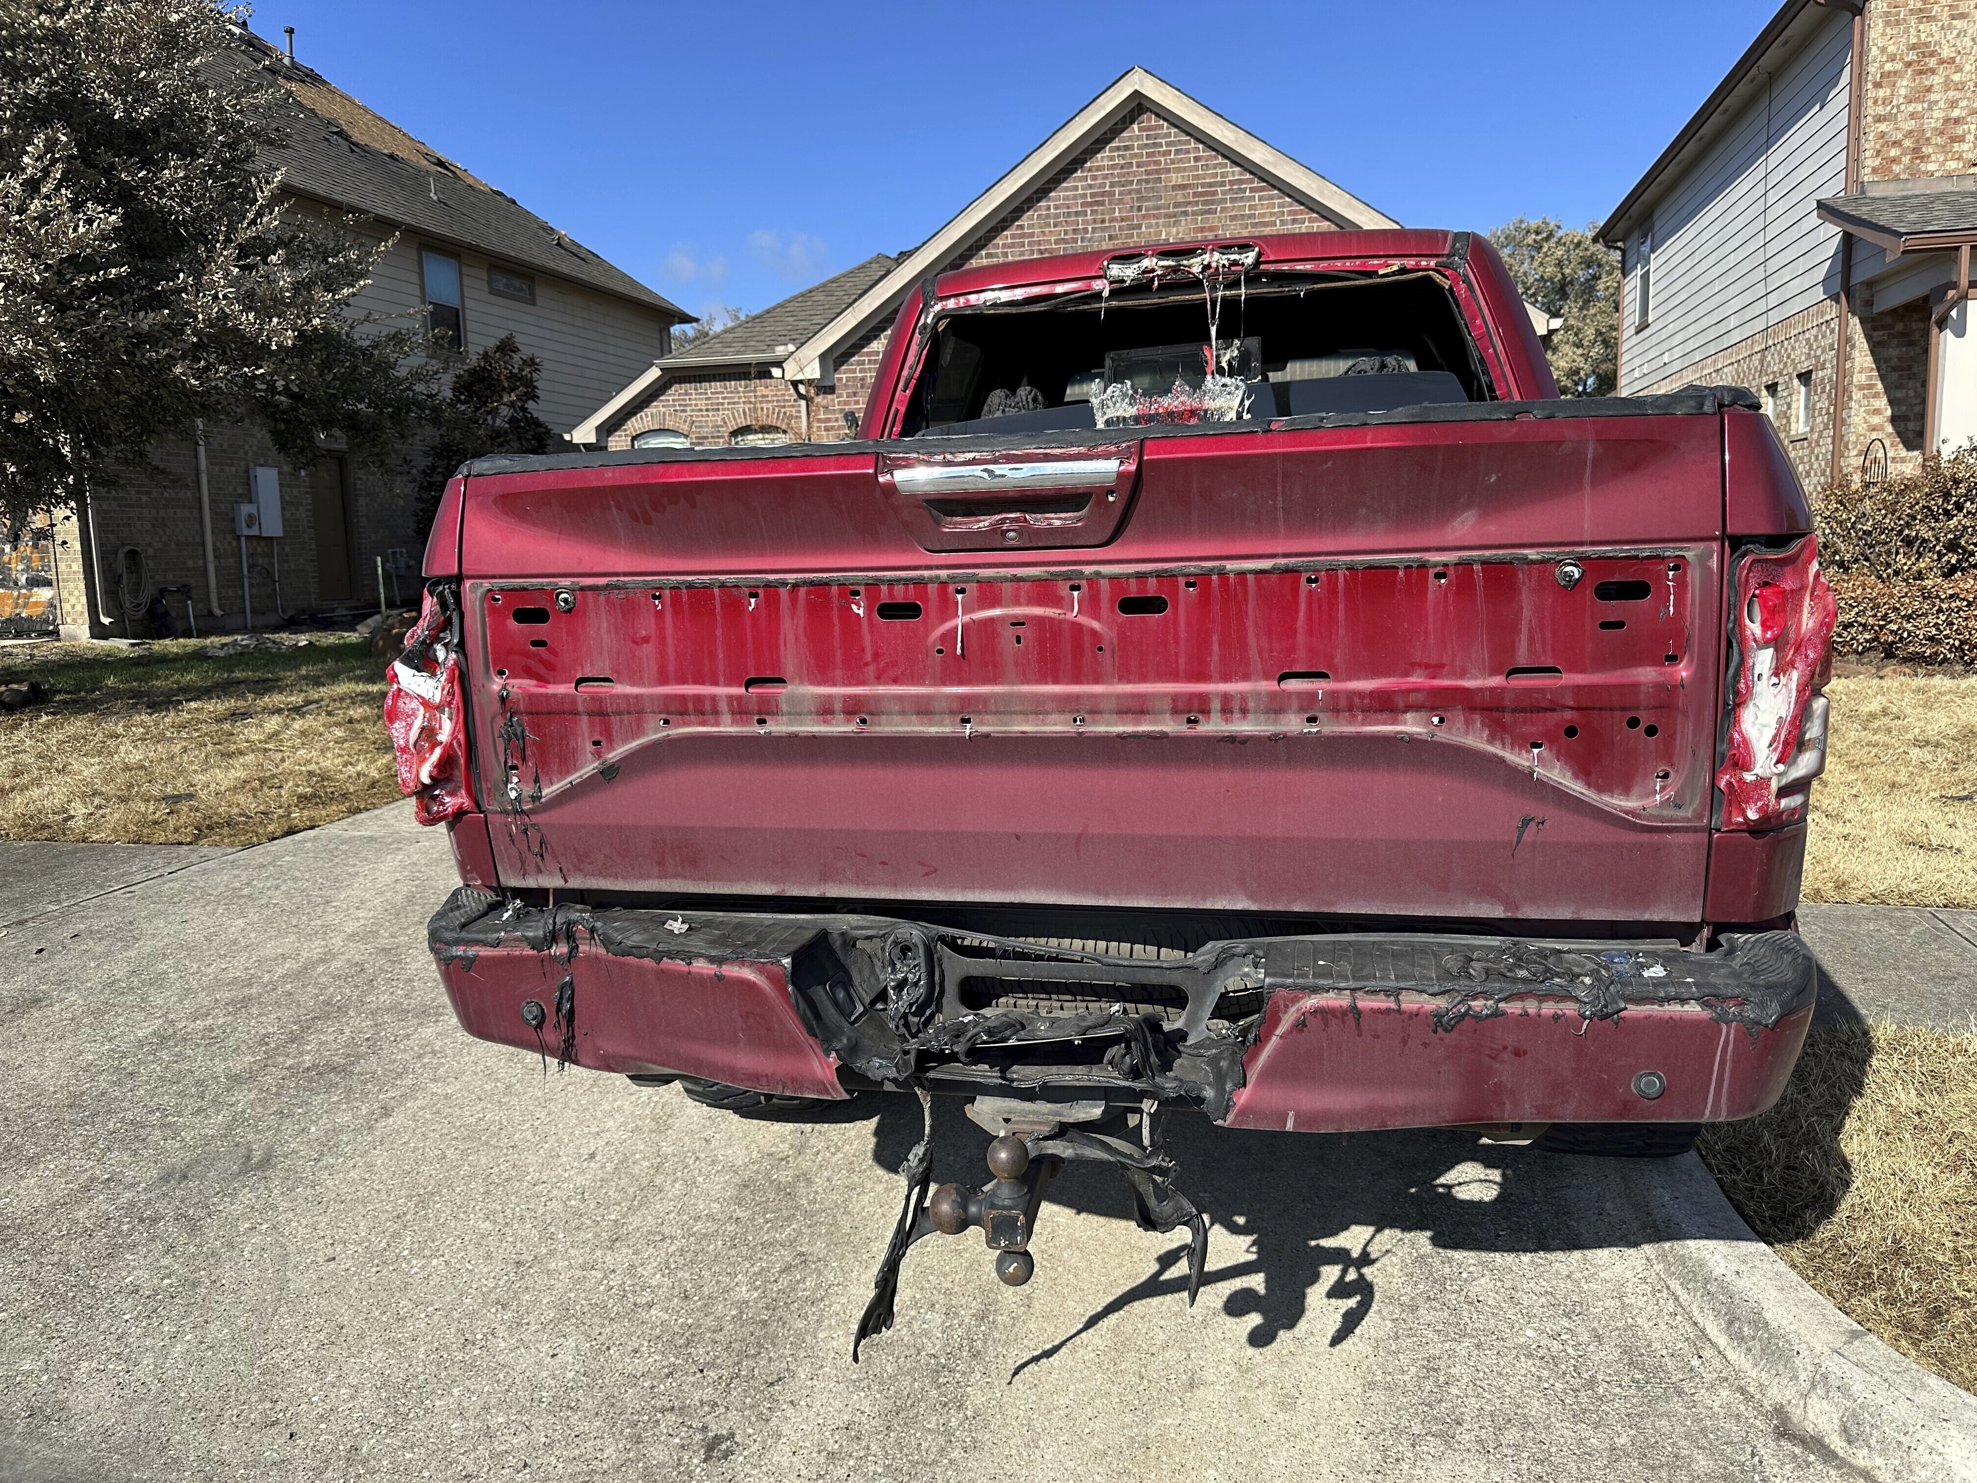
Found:
[[1678, 376], [1839, 293], [1841, 233], [1815, 202], [1847, 184], [1850, 32], [1837, 10], [1777, 69], [1769, 97], [1651, 200], [1651, 318], [1641, 328], [1639, 231], [1625, 245], [1621, 392]]

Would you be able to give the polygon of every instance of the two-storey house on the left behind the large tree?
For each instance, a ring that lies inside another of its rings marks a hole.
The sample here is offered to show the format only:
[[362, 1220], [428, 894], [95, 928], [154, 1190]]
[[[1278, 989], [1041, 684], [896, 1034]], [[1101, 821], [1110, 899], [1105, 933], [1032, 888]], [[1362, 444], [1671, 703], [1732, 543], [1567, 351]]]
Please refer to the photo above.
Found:
[[[247, 30], [237, 42], [215, 69], [281, 89], [289, 140], [265, 164], [283, 172], [285, 206], [360, 214], [360, 231], [395, 237], [352, 301], [354, 314], [443, 330], [449, 360], [514, 334], [542, 358], [536, 409], [558, 429], [664, 356], [672, 326], [692, 320], [279, 47]], [[65, 637], [144, 635], [152, 593], [184, 585], [202, 633], [241, 627], [249, 597], [255, 625], [277, 607], [376, 609], [380, 560], [387, 589], [401, 599], [417, 591], [411, 449], [401, 469], [378, 471], [330, 437], [312, 467], [293, 469], [257, 427], [210, 425], [200, 437], [160, 441], [150, 461], [121, 486], [95, 490], [40, 552], [0, 552], [43, 585], [43, 625], [59, 617]], [[279, 538], [235, 534], [235, 504], [257, 492], [263, 512], [279, 502]], [[26, 619], [28, 593], [14, 597]], [[184, 595], [170, 599], [180, 627], [186, 605]]]

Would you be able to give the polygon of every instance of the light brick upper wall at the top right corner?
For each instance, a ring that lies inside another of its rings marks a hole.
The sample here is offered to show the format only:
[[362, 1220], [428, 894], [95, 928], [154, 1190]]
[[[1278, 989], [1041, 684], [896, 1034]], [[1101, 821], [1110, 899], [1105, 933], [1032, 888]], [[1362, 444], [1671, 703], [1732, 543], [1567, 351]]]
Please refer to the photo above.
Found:
[[1866, 8], [1860, 178], [1977, 174], [1977, 0]]

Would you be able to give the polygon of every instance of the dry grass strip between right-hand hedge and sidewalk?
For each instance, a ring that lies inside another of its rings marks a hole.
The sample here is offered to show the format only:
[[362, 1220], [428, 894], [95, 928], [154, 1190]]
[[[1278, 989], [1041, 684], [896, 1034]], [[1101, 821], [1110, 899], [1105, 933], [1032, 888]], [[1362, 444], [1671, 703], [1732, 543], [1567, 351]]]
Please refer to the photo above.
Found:
[[1977, 906], [1977, 680], [1860, 676], [1827, 696], [1805, 900]]

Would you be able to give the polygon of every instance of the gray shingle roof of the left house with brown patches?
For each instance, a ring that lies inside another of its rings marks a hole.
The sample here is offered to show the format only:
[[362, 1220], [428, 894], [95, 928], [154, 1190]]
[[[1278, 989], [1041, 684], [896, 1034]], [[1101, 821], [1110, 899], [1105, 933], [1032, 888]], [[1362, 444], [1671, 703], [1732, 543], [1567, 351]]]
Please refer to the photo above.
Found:
[[285, 190], [581, 283], [658, 310], [670, 324], [694, 318], [245, 26], [237, 38], [237, 49], [214, 67], [261, 91], [269, 81], [281, 87], [273, 107], [289, 138], [265, 162], [281, 170]]

